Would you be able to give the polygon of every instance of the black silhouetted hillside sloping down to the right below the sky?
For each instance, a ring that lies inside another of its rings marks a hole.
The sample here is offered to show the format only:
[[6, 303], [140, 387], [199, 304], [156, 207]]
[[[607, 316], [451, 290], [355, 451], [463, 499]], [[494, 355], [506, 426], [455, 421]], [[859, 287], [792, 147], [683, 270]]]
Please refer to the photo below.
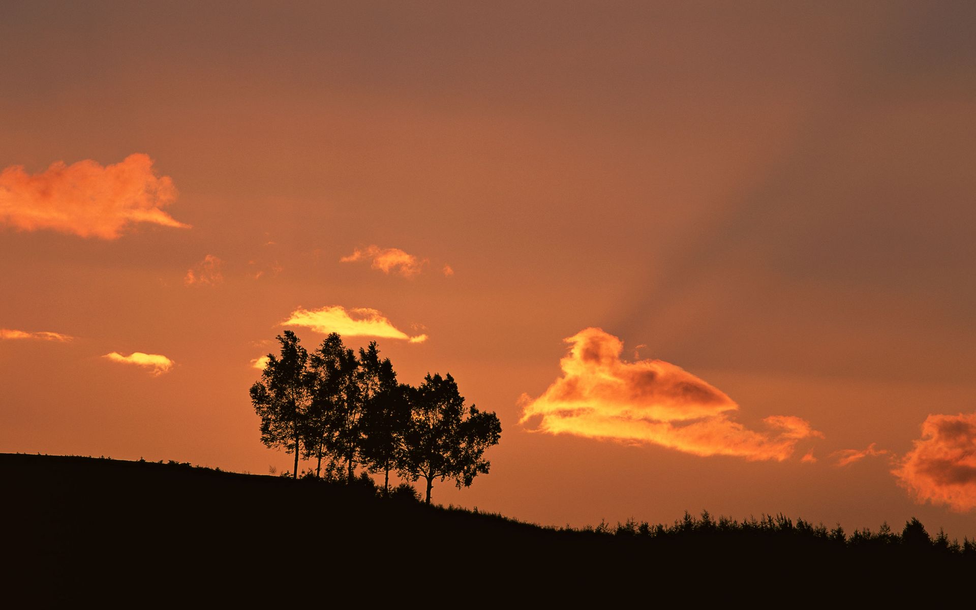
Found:
[[976, 583], [976, 553], [900, 527], [564, 531], [313, 480], [20, 454], [0, 454], [0, 483], [7, 607], [941, 605]]

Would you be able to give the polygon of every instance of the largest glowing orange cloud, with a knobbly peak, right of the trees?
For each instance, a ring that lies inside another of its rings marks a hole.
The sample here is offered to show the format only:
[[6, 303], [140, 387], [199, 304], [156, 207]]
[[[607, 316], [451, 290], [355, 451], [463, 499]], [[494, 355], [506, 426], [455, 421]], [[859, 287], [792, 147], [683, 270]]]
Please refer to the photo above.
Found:
[[542, 396], [523, 394], [520, 423], [540, 418], [537, 429], [629, 442], [647, 442], [697, 456], [785, 460], [797, 441], [822, 436], [805, 420], [771, 416], [767, 430], [733, 421], [731, 398], [662, 360], [621, 359], [624, 344], [598, 328], [566, 339], [563, 376]]

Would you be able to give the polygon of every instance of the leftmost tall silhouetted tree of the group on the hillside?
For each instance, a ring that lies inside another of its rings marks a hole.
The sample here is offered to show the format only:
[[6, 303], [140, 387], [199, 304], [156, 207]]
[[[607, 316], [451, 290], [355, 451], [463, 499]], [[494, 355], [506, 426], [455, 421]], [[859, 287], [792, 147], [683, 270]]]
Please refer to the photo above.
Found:
[[267, 354], [261, 381], [251, 386], [251, 402], [261, 418], [261, 441], [269, 448], [283, 447], [295, 454], [298, 478], [306, 418], [311, 403], [308, 353], [292, 331], [278, 335], [281, 355]]

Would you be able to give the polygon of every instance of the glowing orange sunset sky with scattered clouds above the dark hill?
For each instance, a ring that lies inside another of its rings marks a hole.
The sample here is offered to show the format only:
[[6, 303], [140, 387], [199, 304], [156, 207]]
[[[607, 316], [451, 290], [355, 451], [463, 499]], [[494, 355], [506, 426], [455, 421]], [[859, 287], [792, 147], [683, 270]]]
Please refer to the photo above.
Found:
[[436, 503], [976, 535], [976, 4], [161, 4], [2, 3], [0, 451], [287, 469], [337, 331]]

